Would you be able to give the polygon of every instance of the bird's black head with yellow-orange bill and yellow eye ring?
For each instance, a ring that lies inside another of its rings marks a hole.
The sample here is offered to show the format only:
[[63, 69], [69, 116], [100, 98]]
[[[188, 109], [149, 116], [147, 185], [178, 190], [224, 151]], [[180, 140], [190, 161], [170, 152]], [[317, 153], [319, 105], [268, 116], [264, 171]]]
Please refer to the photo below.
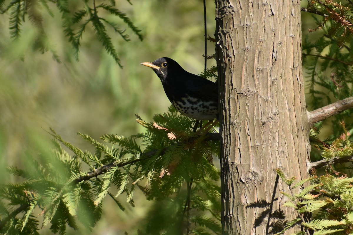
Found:
[[173, 76], [178, 75], [184, 71], [184, 69], [181, 68], [181, 66], [176, 61], [168, 57], [159, 58], [152, 63], [143, 62], [141, 64], [152, 68], [162, 82], [166, 81], [167, 77], [173, 78]]

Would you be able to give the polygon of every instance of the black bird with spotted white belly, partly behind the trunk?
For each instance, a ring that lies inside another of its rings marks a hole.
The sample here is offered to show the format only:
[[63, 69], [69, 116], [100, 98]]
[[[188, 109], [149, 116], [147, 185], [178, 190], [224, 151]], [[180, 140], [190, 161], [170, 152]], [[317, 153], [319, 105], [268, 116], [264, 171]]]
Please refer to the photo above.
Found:
[[183, 115], [196, 120], [218, 118], [218, 85], [215, 82], [185, 71], [168, 57], [141, 64], [154, 70], [170, 103]]

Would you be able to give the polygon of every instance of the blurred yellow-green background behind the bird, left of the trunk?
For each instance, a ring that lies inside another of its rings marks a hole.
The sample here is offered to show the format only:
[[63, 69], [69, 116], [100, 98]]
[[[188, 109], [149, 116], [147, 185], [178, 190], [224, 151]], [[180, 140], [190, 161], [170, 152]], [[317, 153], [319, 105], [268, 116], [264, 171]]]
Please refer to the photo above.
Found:
[[[72, 1], [82, 4], [79, 0]], [[206, 2], [208, 34], [213, 37], [215, 4]], [[148, 0], [132, 1], [132, 4], [121, 0], [116, 8], [127, 13], [142, 30], [143, 42], [128, 29], [130, 42], [123, 41], [113, 30], [108, 31], [123, 69], [98, 42], [91, 25], [83, 34], [79, 61], [75, 61], [61, 26], [61, 15], [50, 2], [54, 17], [39, 10], [48, 42], [61, 63], [53, 60], [50, 52], [41, 54], [36, 49], [36, 40], [42, 35], [28, 18], [21, 26], [20, 38], [13, 41], [9, 15], [0, 15], [0, 178], [3, 183], [20, 180], [6, 172], [7, 166], [25, 168], [27, 161], [39, 153], [50, 154], [52, 138], [46, 132], [50, 127], [64, 140], [83, 150], [92, 150], [76, 132], [95, 139], [107, 133], [129, 136], [142, 131], [134, 113], [150, 122], [155, 113], [166, 112], [170, 103], [161, 82], [141, 62], [166, 56], [191, 73], [199, 74], [203, 70], [202, 0]], [[116, 21], [121, 29], [127, 28], [119, 18], [105, 16]], [[208, 43], [208, 54], [214, 54], [214, 50], [215, 45]], [[208, 67], [211, 64], [215, 63], [210, 61]], [[149, 209], [143, 196], [136, 194], [136, 207], [127, 205], [125, 212], [110, 198], [105, 200], [103, 218], [92, 234], [123, 234], [124, 231], [135, 234], [136, 224], [143, 221]], [[124, 202], [124, 198], [119, 200]], [[68, 234], [90, 234], [85, 228], [80, 232], [68, 231]], [[43, 228], [41, 234], [46, 233], [50, 231]]]

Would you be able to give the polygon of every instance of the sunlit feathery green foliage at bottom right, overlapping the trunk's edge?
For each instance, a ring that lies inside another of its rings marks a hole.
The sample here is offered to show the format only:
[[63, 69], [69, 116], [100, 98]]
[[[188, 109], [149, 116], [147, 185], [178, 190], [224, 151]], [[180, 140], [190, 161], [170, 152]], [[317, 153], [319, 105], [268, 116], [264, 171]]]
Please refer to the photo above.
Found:
[[[284, 234], [289, 228], [298, 225], [301, 231], [295, 234], [352, 233], [353, 214], [350, 206], [353, 178], [313, 175], [294, 184], [295, 178], [288, 179], [281, 169], [276, 169], [276, 172], [291, 192], [282, 192], [289, 199], [283, 205], [297, 212], [297, 217], [287, 222], [286, 227], [276, 235]], [[301, 190], [294, 193], [293, 189], [298, 187]]]

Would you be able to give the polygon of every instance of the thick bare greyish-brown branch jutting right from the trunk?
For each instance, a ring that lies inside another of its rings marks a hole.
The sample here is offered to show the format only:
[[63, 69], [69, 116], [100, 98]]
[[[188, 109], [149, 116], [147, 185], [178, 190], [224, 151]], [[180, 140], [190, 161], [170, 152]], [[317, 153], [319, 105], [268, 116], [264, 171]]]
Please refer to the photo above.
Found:
[[339, 100], [333, 104], [326, 105], [320, 109], [308, 112], [308, 122], [310, 125], [325, 120], [337, 113], [353, 108], [353, 97]]

